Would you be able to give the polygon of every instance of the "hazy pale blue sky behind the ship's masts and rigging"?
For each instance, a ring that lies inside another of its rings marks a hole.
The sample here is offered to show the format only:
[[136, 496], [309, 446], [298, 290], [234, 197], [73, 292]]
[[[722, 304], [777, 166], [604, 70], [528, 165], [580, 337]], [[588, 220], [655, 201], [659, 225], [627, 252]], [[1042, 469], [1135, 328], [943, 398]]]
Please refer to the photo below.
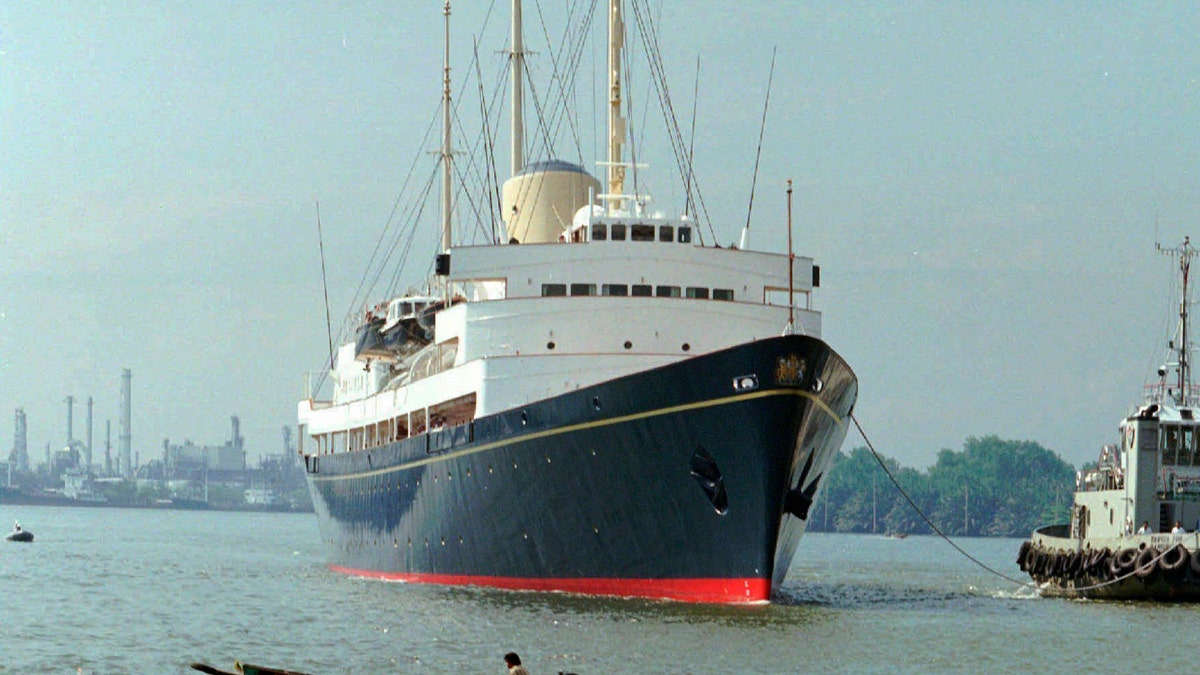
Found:
[[[473, 40], [490, 95], [508, 1], [485, 32], [490, 5], [460, 5], [467, 125]], [[541, 5], [545, 32], [526, 5], [527, 46], [545, 92], [566, 4]], [[700, 58], [697, 174], [722, 243], [745, 221], [778, 49], [752, 247], [784, 250], [793, 179], [824, 338], [858, 372], [882, 453], [928, 466], [996, 434], [1079, 465], [1115, 438], [1163, 358], [1156, 238], [1200, 237], [1200, 6], [655, 11], [685, 133]], [[278, 452], [304, 372], [328, 358], [314, 203], [336, 323], [414, 159], [422, 177], [433, 161], [440, 22], [432, 0], [0, 2], [0, 454], [17, 407], [35, 461], [61, 447], [67, 395], [95, 398], [95, 446], [106, 419], [115, 444], [122, 368], [143, 460], [164, 437], [224, 442], [230, 414], [252, 455]], [[589, 47], [583, 84], [601, 58]], [[644, 82], [635, 120], [659, 115]], [[671, 156], [647, 155], [678, 210]]]

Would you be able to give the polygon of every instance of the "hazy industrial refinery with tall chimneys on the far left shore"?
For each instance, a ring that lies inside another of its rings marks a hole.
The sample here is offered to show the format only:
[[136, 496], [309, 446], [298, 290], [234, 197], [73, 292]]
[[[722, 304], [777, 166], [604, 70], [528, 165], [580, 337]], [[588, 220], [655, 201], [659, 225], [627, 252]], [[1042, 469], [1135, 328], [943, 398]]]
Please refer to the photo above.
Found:
[[[282, 428], [278, 453], [263, 453], [247, 466], [241, 420], [229, 418], [229, 437], [220, 443], [155, 443], [143, 455], [133, 450], [130, 369], [121, 371], [116, 447], [112, 420], [104, 420], [103, 446], [94, 444], [94, 405], [86, 399], [84, 437], [76, 436], [77, 399], [66, 404], [65, 443], [46, 443], [42, 461], [30, 452], [24, 408], [13, 418], [13, 442], [0, 464], [0, 503], [212, 508], [234, 510], [311, 510], [304, 471], [296, 461], [292, 428]], [[145, 444], [143, 443], [143, 447]]]

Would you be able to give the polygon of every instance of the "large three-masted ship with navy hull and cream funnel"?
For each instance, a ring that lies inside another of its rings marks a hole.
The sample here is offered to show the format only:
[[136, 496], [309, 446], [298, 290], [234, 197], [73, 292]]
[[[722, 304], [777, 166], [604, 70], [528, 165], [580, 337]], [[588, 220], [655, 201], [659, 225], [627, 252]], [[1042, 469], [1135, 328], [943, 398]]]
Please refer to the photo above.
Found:
[[858, 392], [820, 338], [820, 268], [791, 250], [706, 244], [694, 217], [626, 191], [641, 165], [622, 149], [619, 2], [607, 12], [606, 189], [578, 165], [526, 162], [520, 16], [517, 0], [506, 239], [451, 241], [448, 46], [436, 274], [373, 305], [337, 350], [331, 394], [299, 404], [329, 565], [767, 602]]

